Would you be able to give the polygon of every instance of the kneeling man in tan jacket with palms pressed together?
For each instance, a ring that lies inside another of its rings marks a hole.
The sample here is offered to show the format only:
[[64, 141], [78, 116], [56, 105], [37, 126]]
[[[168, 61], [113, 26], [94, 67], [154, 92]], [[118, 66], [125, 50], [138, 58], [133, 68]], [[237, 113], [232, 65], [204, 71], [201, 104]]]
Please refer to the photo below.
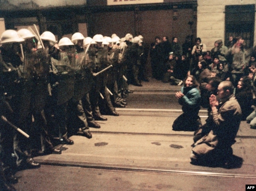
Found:
[[233, 94], [234, 86], [230, 81], [223, 81], [218, 86], [218, 100], [211, 95], [210, 106], [213, 118], [211, 131], [193, 144], [190, 159], [192, 164], [229, 167], [232, 164], [242, 111]]

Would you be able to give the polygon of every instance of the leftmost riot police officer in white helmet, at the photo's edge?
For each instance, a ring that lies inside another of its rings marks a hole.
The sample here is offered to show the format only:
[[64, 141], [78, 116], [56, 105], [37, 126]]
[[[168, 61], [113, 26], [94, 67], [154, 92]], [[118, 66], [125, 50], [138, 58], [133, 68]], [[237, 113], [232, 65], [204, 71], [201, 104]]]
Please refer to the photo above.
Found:
[[[8, 167], [39, 168], [29, 155], [29, 140], [14, 128], [27, 132], [27, 116], [31, 98], [31, 79], [24, 70], [24, 59], [20, 38], [14, 30], [6, 30], [1, 36], [1, 78], [0, 78], [0, 154], [1, 170]], [[14, 127], [14, 128], [13, 128]], [[16, 165], [12, 163], [12, 153], [16, 156]], [[10, 187], [11, 188], [11, 187]]]

